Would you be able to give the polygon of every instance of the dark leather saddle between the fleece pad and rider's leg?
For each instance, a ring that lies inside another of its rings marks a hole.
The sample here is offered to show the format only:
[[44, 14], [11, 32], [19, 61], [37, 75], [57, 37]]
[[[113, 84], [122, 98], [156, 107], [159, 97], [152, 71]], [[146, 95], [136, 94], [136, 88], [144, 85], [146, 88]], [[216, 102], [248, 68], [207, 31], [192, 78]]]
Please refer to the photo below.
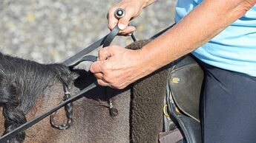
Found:
[[194, 57], [186, 55], [174, 61], [174, 66], [171, 66], [168, 75], [165, 99], [170, 116], [165, 116], [165, 120], [171, 121], [168, 123], [168, 131], [178, 129], [180, 132], [183, 139], [179, 143], [202, 142], [200, 128], [202, 84], [203, 69]]

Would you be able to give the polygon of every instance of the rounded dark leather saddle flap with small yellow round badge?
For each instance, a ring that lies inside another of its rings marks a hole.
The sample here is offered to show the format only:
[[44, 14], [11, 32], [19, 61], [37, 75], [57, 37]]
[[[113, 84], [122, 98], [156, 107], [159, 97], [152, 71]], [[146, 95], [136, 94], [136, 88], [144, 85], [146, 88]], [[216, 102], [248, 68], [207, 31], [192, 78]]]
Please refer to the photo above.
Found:
[[173, 66], [169, 80], [171, 96], [177, 107], [187, 116], [200, 122], [199, 102], [203, 70], [190, 56]]

